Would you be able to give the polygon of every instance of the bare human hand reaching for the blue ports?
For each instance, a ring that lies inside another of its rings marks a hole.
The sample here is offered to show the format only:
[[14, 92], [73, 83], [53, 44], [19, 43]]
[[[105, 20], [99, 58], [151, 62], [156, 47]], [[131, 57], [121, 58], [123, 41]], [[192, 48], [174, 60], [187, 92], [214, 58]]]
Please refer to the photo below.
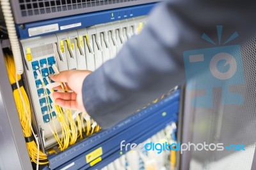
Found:
[[[50, 78], [56, 82], [67, 84], [68, 90], [72, 92], [54, 92], [55, 103], [63, 108], [71, 110], [85, 111], [82, 96], [83, 81], [92, 71], [88, 70], [68, 70], [61, 71], [60, 74], [52, 75]], [[56, 87], [54, 90], [61, 90]]]

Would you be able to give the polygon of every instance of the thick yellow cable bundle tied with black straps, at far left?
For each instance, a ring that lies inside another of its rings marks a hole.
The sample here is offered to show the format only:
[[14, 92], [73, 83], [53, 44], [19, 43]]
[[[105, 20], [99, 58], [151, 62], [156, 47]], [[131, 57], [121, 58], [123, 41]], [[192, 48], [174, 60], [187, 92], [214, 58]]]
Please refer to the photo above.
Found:
[[12, 56], [5, 55], [4, 61], [6, 63], [10, 83], [17, 87], [17, 89], [13, 89], [13, 96], [17, 106], [17, 111], [19, 113], [20, 124], [22, 125], [22, 131], [26, 139], [26, 144], [28, 147], [28, 153], [29, 157], [31, 158], [31, 162], [35, 162], [37, 166], [38, 164], [47, 164], [47, 155], [42, 151], [39, 151], [38, 140], [32, 129], [31, 108], [29, 104], [28, 95], [26, 94], [24, 87], [19, 85], [21, 76], [15, 74], [15, 62]]

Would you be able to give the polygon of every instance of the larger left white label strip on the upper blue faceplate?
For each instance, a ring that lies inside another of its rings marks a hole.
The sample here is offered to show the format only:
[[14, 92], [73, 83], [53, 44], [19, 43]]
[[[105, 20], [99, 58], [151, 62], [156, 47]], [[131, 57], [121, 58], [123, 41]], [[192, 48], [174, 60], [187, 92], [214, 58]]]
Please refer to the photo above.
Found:
[[40, 34], [45, 34], [48, 32], [54, 32], [59, 31], [59, 25], [58, 24], [51, 24], [51, 25], [44, 25], [41, 27], [33, 27], [28, 29], [28, 34], [30, 36], [37, 36]]

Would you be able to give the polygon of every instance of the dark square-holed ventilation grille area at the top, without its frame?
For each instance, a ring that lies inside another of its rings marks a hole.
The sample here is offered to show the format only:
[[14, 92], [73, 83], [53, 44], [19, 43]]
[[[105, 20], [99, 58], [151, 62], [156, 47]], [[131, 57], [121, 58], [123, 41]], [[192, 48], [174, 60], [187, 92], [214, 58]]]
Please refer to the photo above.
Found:
[[139, 0], [19, 0], [22, 17]]

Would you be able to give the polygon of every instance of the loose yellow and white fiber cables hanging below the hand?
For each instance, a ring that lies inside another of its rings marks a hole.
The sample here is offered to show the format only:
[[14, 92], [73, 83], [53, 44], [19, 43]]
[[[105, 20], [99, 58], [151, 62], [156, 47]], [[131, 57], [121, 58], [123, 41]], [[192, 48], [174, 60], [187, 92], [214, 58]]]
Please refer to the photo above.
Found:
[[[52, 66], [54, 69], [55, 74], [60, 73], [57, 67], [54, 65]], [[38, 71], [37, 72], [39, 79], [42, 81], [42, 86], [45, 89], [49, 88], [45, 85], [42, 74]], [[49, 78], [46, 78], [48, 84], [51, 83]], [[68, 86], [66, 83], [60, 83], [61, 91], [68, 92]], [[54, 92], [53, 89], [49, 89], [51, 94]], [[77, 139], [83, 139], [83, 132], [86, 133], [86, 136], [90, 136], [93, 132], [100, 131], [99, 125], [92, 120], [92, 118], [87, 113], [81, 113], [76, 111], [76, 113], [72, 114], [70, 109], [64, 109], [54, 103], [54, 99], [51, 94], [47, 94], [45, 90], [45, 94], [47, 95], [47, 107], [49, 110], [49, 116], [52, 118], [52, 124], [48, 122], [48, 127], [52, 132], [52, 135], [56, 139], [59, 149], [61, 151], [68, 148], [70, 145], [74, 145]], [[52, 103], [50, 103], [52, 101]], [[56, 117], [58, 118], [58, 122], [61, 125], [61, 132], [56, 131], [56, 120], [52, 115], [52, 111], [56, 113]], [[81, 117], [79, 116], [81, 115]], [[84, 125], [84, 120], [86, 120], [86, 125]], [[54, 128], [52, 128], [52, 126]], [[85, 128], [86, 127], [86, 128]]]

